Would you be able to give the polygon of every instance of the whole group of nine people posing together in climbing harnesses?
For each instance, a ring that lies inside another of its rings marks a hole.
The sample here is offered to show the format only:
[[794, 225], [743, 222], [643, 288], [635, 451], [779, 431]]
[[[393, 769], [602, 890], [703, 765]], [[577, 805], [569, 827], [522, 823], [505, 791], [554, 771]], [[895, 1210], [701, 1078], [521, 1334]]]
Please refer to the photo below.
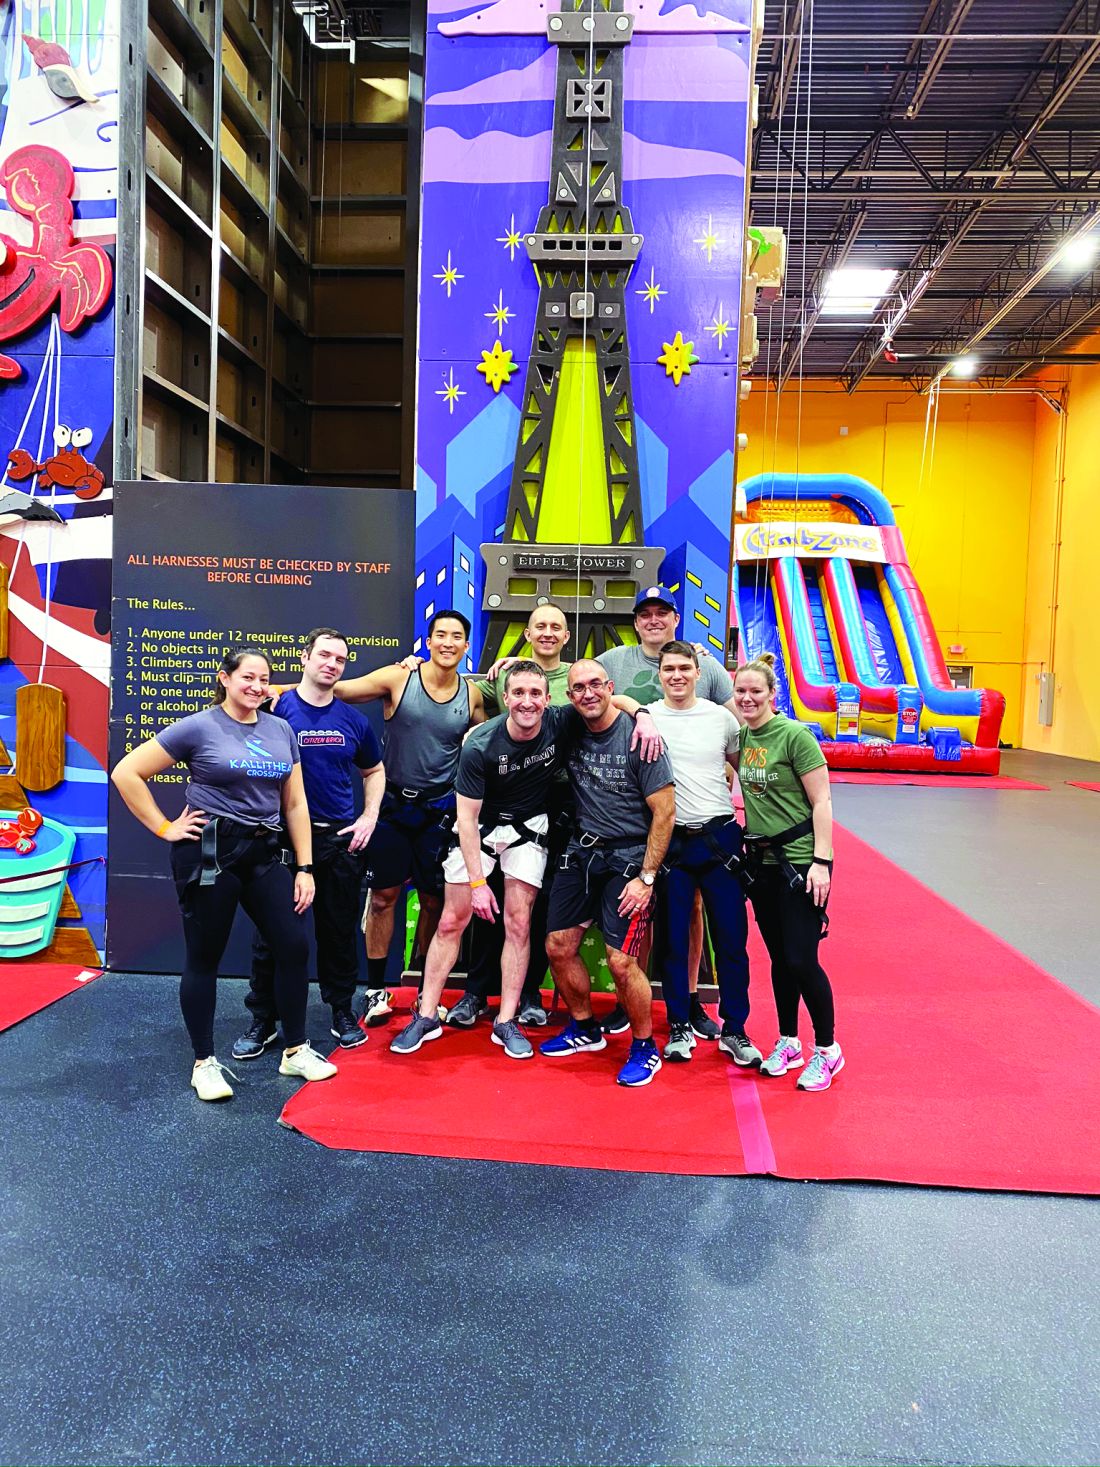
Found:
[[[271, 687], [258, 648], [229, 653], [216, 703], [163, 729], [116, 766], [131, 811], [172, 845], [186, 956], [180, 1008], [202, 1100], [232, 1096], [214, 1053], [217, 970], [238, 907], [255, 927], [251, 1025], [236, 1061], [279, 1039], [280, 1072], [326, 1080], [336, 1067], [305, 1034], [307, 911], [314, 910], [317, 976], [345, 1047], [387, 1022], [386, 967], [395, 908], [419, 898], [422, 980], [395, 1055], [414, 1055], [474, 1027], [497, 986], [490, 1037], [506, 1058], [532, 1059], [528, 1031], [547, 1024], [547, 964], [569, 1020], [538, 1045], [566, 1059], [629, 1030], [619, 1084], [648, 1084], [661, 1061], [686, 1062], [700, 1039], [766, 1075], [799, 1069], [824, 1090], [843, 1067], [833, 996], [818, 961], [832, 883], [832, 807], [814, 736], [774, 707], [773, 660], [735, 678], [676, 638], [670, 591], [647, 587], [635, 606], [637, 645], [568, 663], [566, 613], [531, 613], [524, 657], [484, 678], [459, 667], [469, 622], [440, 610], [427, 660], [345, 678], [348, 643], [317, 628], [293, 689]], [[273, 711], [263, 704], [276, 697]], [[381, 701], [384, 750], [355, 707]], [[150, 780], [182, 763], [189, 780], [175, 820]], [[739, 773], [745, 829], [730, 780]], [[362, 890], [370, 889], [367, 993], [353, 1009]], [[748, 1037], [745, 893], [771, 959], [779, 1037], [764, 1055]], [[720, 1025], [700, 1002], [705, 911]], [[440, 1008], [462, 936], [474, 921], [465, 990]], [[598, 926], [617, 1003], [597, 1020], [582, 942]], [[653, 949], [653, 952], [651, 952]], [[669, 1034], [653, 1033], [647, 962], [660, 977]], [[808, 1064], [799, 1002], [814, 1028]]]

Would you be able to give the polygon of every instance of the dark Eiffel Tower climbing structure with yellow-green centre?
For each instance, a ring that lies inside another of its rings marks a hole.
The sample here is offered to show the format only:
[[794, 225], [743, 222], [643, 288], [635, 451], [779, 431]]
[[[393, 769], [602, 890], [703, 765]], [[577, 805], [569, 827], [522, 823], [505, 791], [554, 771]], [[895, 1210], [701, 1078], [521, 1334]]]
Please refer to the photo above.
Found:
[[[623, 53], [632, 34], [623, 0], [563, 0], [547, 16], [557, 47], [550, 189], [525, 236], [538, 310], [505, 533], [481, 546], [490, 615], [483, 666], [519, 648], [531, 607], [546, 600], [560, 601], [571, 623], [575, 613], [575, 657], [619, 645], [638, 587], [657, 579], [664, 559], [644, 544], [626, 337], [626, 282], [642, 248], [622, 202]], [[598, 396], [598, 422], [581, 408], [579, 437], [575, 402], [563, 400], [578, 387], [593, 405]], [[565, 462], [568, 414], [581, 452]], [[560, 500], [581, 497], [576, 538], [566, 541]], [[582, 537], [582, 525], [595, 538]]]

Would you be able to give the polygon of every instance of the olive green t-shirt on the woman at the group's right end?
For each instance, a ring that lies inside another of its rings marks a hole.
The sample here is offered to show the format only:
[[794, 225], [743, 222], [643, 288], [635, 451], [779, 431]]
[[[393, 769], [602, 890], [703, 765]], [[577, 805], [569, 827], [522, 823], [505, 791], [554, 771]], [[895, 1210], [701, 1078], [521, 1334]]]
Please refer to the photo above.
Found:
[[[811, 805], [801, 776], [824, 761], [810, 729], [785, 713], [776, 713], [755, 732], [742, 723], [738, 775], [745, 797], [745, 830], [779, 835], [805, 820]], [[785, 854], [795, 866], [808, 866], [814, 858], [813, 830], [785, 846]], [[774, 863], [773, 855], [764, 860]]]

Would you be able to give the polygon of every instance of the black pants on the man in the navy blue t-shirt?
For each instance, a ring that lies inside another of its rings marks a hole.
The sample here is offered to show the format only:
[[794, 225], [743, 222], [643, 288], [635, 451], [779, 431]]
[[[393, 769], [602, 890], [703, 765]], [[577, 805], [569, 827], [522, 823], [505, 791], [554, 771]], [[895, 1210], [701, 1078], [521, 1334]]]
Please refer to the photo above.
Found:
[[[349, 1009], [359, 981], [359, 915], [362, 912], [362, 852], [348, 849], [351, 836], [339, 826], [314, 824], [314, 943], [321, 1002]], [[257, 930], [252, 937], [252, 981], [245, 1005], [260, 1022], [274, 1024], [280, 1009], [274, 995], [274, 952]]]

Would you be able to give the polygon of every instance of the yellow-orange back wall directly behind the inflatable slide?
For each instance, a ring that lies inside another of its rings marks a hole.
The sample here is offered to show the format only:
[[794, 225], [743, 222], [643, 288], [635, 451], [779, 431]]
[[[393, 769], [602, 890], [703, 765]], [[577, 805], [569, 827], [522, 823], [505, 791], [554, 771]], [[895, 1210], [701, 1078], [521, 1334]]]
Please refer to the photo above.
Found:
[[[975, 687], [1005, 694], [1002, 739], [1019, 744], [1037, 411], [1055, 415], [1031, 393], [945, 386], [936, 439], [928, 434], [925, 446], [927, 399], [906, 387], [874, 384], [849, 395], [807, 383], [799, 412], [792, 381], [779, 411], [776, 402], [774, 392], [754, 381], [739, 414], [748, 447], [738, 478], [770, 471], [858, 474], [881, 489], [945, 657], [972, 663]], [[964, 654], [947, 651], [956, 644]]]

